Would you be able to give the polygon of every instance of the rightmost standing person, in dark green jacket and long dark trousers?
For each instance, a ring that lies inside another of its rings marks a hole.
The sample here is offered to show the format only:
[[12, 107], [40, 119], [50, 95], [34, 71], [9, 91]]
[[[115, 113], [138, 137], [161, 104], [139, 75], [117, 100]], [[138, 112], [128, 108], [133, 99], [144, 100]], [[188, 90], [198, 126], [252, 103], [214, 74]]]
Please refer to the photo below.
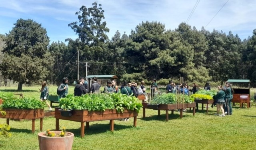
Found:
[[226, 101], [227, 101], [227, 107], [226, 107], [227, 108], [227, 113], [225, 112], [225, 114], [232, 115], [231, 100], [233, 98], [234, 90], [232, 89], [229, 82], [226, 83], [225, 94], [226, 94], [225, 97], [226, 97]]

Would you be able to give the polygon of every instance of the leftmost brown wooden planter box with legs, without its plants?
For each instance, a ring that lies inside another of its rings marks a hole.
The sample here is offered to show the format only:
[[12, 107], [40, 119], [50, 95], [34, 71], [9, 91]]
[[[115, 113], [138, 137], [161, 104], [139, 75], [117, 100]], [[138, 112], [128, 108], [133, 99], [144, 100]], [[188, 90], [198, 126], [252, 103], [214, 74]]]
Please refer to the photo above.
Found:
[[32, 133], [35, 132], [35, 120], [40, 118], [40, 131], [43, 129], [44, 109], [3, 109], [6, 111], [6, 124], [9, 124], [10, 119], [31, 119], [32, 120]]

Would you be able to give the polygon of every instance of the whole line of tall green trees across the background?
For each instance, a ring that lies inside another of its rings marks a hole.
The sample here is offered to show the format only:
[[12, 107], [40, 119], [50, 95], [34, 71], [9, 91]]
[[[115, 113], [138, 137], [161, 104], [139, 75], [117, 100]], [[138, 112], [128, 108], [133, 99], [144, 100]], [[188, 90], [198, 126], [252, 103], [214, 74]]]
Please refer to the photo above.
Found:
[[[109, 39], [101, 4], [82, 6], [78, 21], [68, 24], [78, 35], [76, 40], [52, 42], [41, 24], [18, 19], [14, 28], [0, 35], [1, 80], [22, 84], [46, 80], [59, 84], [64, 76], [115, 74], [121, 80], [149, 82], [153, 78], [184, 77], [186, 82], [204, 84], [228, 79], [250, 79], [256, 83], [256, 30], [241, 40], [222, 31], [197, 30], [182, 22], [175, 30], [166, 30], [160, 22], [142, 22], [130, 35], [118, 30]], [[79, 51], [79, 55], [77, 55]]]

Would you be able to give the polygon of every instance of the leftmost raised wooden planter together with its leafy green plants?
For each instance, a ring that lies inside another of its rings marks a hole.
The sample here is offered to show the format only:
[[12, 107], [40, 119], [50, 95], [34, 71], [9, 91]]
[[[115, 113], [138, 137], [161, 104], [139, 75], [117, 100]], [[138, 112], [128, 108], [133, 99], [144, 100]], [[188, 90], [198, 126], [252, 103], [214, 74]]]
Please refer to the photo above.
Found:
[[32, 120], [32, 133], [35, 132], [35, 120], [40, 118], [40, 130], [43, 126], [45, 102], [35, 98], [8, 98], [4, 100], [2, 108], [6, 115], [0, 114], [0, 118], [6, 118], [7, 124], [10, 119], [30, 119]]

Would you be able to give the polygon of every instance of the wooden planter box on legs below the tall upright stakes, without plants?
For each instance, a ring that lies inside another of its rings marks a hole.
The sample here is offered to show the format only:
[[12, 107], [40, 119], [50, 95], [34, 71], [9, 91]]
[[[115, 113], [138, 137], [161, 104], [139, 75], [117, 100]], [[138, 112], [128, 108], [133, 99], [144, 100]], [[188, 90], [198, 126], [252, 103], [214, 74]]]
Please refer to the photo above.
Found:
[[[152, 109], [148, 106], [148, 103], [142, 103], [143, 105], [143, 118], [146, 117], [146, 109]], [[186, 103], [186, 104], [158, 104], [157, 109], [158, 110], [158, 116], [160, 116], [160, 110], [166, 110], [166, 121], [169, 120], [169, 110], [172, 111], [172, 114], [174, 112], [174, 110], [176, 109], [180, 109], [180, 118], [183, 117], [183, 109], [186, 108], [193, 108], [193, 116], [195, 115], [195, 107], [196, 107], [196, 103]]]

